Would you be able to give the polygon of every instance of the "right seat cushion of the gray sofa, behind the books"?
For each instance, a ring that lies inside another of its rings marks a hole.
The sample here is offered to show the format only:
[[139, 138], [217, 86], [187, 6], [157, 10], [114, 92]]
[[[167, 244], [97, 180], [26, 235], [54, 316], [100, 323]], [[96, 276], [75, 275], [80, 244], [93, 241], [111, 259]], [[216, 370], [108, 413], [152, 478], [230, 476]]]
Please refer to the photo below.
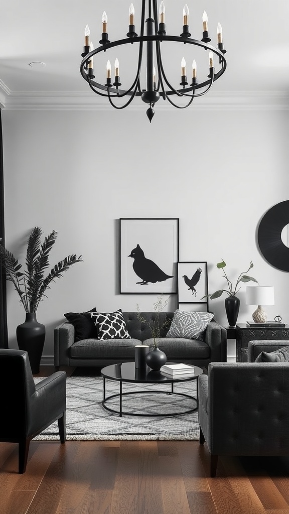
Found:
[[[146, 339], [143, 344], [153, 345], [153, 339]], [[195, 339], [187, 339], [181, 337], [160, 337], [158, 338], [158, 347], [165, 352], [167, 360], [170, 359], [208, 359], [210, 357], [210, 348], [204, 341]]]

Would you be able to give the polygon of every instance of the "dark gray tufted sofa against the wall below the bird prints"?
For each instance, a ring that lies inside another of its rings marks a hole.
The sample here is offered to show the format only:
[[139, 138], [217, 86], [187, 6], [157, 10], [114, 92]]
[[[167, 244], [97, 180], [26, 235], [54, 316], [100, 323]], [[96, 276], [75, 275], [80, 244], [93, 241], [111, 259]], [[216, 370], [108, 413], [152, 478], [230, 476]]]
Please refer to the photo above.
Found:
[[[103, 366], [117, 362], [134, 361], [134, 346], [145, 342], [152, 344], [151, 330], [146, 323], [137, 318], [135, 312], [123, 312], [128, 332], [132, 339], [83, 339], [75, 342], [74, 326], [64, 322], [54, 331], [55, 367], [60, 366]], [[150, 324], [156, 317], [155, 312], [141, 313]], [[227, 333], [224, 327], [212, 320], [208, 324], [204, 341], [166, 337], [173, 312], [160, 313], [159, 326], [162, 327], [159, 348], [167, 355], [168, 361], [187, 362], [208, 367], [212, 361], [227, 360]]]

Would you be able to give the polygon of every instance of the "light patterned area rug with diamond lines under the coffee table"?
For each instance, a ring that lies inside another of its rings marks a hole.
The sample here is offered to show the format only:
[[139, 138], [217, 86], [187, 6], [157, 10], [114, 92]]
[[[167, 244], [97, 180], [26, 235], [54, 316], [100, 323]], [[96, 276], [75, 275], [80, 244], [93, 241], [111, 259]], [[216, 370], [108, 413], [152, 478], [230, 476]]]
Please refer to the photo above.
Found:
[[[42, 380], [34, 378], [35, 382]], [[119, 393], [119, 383], [105, 381], [106, 397]], [[161, 393], [149, 393], [149, 391]], [[166, 416], [195, 407], [193, 399], [169, 394], [170, 384], [123, 383], [122, 393], [142, 391], [143, 394], [123, 395], [123, 412], [150, 412], [163, 416], [131, 416], [107, 411], [102, 406], [102, 377], [67, 377], [66, 439], [67, 440], [198, 440], [197, 410], [188, 414]], [[146, 393], [144, 393], [146, 391]], [[175, 393], [196, 396], [196, 381], [174, 384]], [[107, 405], [119, 409], [119, 398]], [[59, 440], [58, 424], [53, 423], [40, 435], [39, 440]]]

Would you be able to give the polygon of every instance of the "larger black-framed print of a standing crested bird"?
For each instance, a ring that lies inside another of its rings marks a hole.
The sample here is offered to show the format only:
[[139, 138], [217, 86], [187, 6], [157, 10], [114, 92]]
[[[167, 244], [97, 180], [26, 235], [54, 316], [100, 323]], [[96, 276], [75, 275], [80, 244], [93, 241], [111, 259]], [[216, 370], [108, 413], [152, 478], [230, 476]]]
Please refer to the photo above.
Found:
[[120, 293], [177, 293], [178, 218], [120, 218]]

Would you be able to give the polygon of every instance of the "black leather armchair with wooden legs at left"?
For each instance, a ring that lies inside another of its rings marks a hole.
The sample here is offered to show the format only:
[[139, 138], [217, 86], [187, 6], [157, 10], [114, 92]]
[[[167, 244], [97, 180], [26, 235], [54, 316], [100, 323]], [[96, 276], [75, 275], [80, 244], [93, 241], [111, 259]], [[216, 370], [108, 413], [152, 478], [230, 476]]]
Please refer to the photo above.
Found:
[[30, 440], [56, 420], [65, 442], [66, 373], [34, 384], [27, 352], [0, 349], [0, 391], [0, 440], [19, 444], [19, 473], [24, 473]]

